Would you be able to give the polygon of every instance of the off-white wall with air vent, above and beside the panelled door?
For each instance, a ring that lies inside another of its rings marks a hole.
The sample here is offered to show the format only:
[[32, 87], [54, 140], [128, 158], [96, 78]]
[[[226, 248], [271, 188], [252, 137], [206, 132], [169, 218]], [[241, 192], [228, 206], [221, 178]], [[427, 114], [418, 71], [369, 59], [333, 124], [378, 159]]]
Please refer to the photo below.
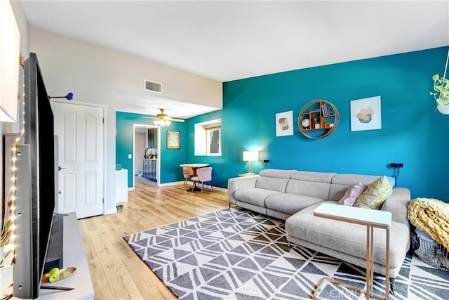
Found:
[[[115, 99], [118, 92], [142, 93], [144, 79], [163, 84], [153, 96], [222, 107], [222, 83], [128, 54], [29, 27], [29, 51], [36, 53], [51, 96], [106, 105], [106, 212], [115, 210]], [[148, 93], [153, 93], [148, 91]], [[132, 134], [132, 132], [130, 132]]]

